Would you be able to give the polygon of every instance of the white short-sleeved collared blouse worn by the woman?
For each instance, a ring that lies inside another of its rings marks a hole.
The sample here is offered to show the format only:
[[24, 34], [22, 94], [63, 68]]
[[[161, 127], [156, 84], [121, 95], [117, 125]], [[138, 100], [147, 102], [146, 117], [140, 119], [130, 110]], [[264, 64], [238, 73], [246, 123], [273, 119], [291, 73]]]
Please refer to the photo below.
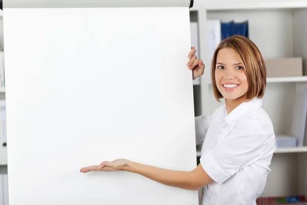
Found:
[[226, 106], [195, 117], [200, 163], [214, 180], [204, 187], [203, 205], [254, 205], [264, 191], [275, 151], [268, 114], [254, 98], [227, 115]]

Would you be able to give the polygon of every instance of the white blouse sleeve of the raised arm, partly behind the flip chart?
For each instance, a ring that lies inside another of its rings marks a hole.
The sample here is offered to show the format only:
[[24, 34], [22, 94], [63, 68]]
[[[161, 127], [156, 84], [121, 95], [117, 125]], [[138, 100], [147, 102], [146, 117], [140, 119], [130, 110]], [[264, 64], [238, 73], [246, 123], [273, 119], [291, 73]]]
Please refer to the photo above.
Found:
[[195, 117], [195, 137], [196, 145], [201, 145], [209, 129], [212, 115], [200, 115]]

